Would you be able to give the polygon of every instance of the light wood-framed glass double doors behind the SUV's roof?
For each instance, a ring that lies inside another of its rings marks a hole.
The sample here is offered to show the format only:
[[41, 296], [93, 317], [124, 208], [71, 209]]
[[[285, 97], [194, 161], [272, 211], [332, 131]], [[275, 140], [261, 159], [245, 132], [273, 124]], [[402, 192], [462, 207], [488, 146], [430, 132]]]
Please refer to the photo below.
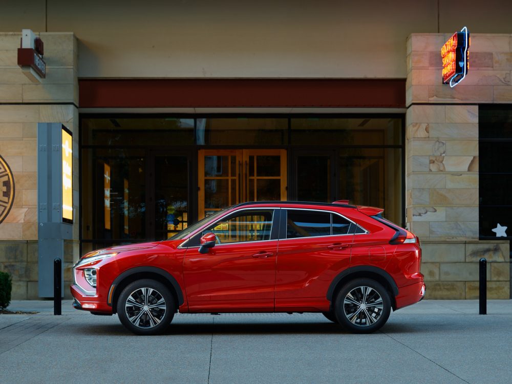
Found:
[[232, 204], [286, 200], [286, 150], [200, 150], [199, 219]]

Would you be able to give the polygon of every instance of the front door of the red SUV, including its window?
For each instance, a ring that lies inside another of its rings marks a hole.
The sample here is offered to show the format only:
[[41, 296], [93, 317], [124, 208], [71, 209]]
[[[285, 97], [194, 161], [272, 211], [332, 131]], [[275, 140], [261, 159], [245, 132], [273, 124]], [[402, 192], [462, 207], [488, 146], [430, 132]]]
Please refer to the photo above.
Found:
[[278, 250], [274, 212], [243, 209], [196, 235], [213, 232], [217, 244], [207, 253], [198, 246], [186, 251], [183, 274], [190, 312], [273, 310]]

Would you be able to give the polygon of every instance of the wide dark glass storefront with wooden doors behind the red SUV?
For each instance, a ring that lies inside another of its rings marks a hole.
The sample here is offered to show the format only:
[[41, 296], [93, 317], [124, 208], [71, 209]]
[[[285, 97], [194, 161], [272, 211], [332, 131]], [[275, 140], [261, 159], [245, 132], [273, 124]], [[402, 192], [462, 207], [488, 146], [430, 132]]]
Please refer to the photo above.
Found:
[[403, 224], [403, 118], [82, 115], [82, 253], [254, 200], [349, 199]]

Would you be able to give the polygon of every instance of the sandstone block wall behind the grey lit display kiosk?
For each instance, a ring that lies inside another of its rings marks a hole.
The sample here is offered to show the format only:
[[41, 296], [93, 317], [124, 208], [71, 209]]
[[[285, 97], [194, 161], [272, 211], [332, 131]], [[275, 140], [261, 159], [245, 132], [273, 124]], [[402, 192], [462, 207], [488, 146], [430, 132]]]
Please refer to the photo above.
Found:
[[[73, 33], [36, 33], [45, 44], [47, 76], [31, 82], [17, 66], [21, 32], [0, 33], [0, 155], [9, 164], [15, 198], [0, 223], [0, 270], [12, 275], [13, 299], [37, 292], [37, 123], [61, 122], [73, 135], [73, 205], [78, 212], [77, 41]], [[78, 216], [67, 245], [65, 280], [78, 259]]]

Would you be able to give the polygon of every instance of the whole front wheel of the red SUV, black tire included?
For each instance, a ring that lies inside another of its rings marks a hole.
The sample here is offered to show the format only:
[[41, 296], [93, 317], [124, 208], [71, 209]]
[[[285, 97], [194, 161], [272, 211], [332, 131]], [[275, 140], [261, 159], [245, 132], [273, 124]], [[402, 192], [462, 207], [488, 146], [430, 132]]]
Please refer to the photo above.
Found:
[[117, 301], [120, 322], [138, 335], [155, 335], [165, 331], [175, 312], [176, 303], [169, 289], [150, 279], [130, 283], [122, 290]]

